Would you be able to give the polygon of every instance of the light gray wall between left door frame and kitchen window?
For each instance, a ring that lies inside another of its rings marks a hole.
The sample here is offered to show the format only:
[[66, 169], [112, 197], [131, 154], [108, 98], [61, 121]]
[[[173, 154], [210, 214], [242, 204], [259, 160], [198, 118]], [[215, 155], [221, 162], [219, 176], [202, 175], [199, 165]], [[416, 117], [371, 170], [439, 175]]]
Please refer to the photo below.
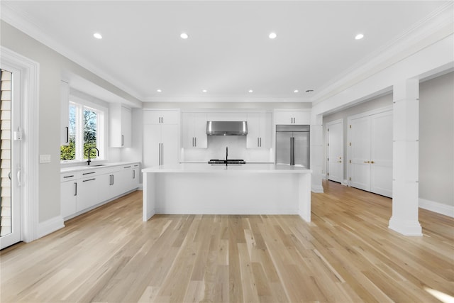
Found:
[[56, 124], [60, 125], [62, 73], [79, 75], [123, 99], [138, 100], [8, 23], [0, 22], [0, 44], [39, 63], [39, 153], [51, 157], [50, 163], [39, 165], [38, 220], [43, 222], [60, 216], [60, 127]]

